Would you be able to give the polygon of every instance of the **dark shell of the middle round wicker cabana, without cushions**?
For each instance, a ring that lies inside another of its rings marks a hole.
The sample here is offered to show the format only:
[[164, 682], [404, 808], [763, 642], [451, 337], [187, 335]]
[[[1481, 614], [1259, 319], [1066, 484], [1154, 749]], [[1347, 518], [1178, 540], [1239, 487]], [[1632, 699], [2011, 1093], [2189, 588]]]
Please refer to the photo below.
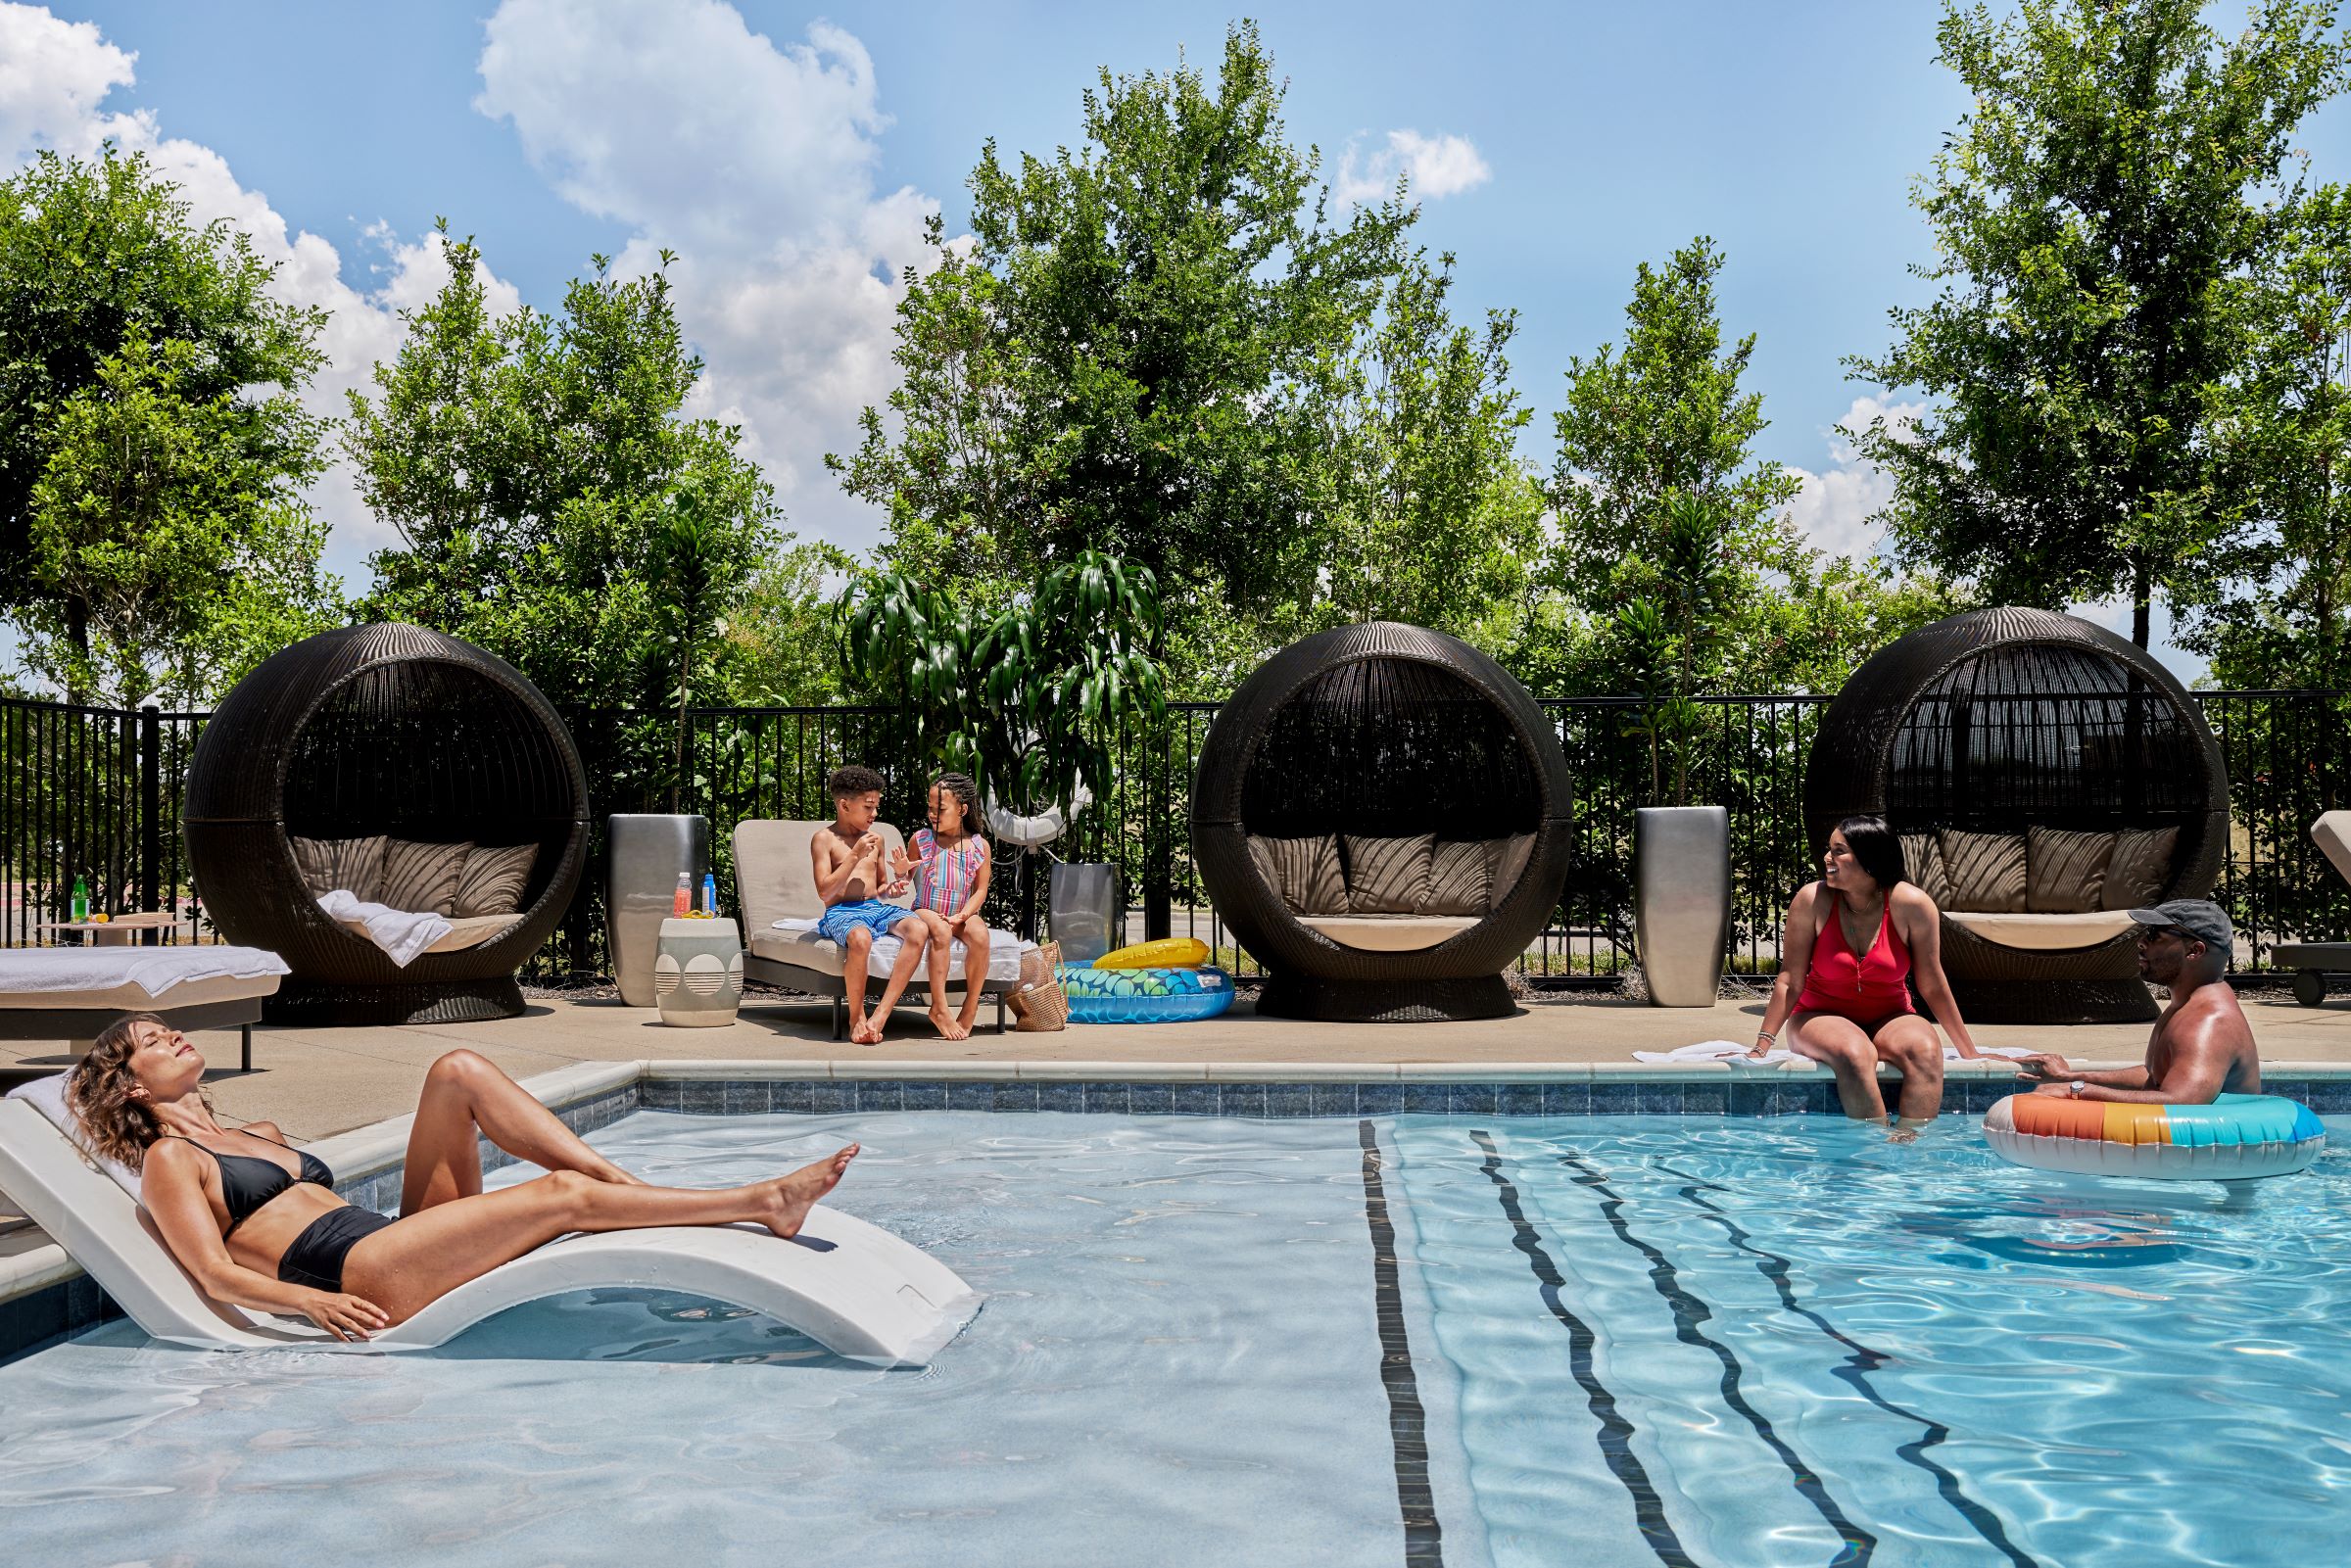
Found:
[[[1568, 759], [1516, 679], [1465, 642], [1375, 621], [1265, 661], [1218, 708], [1192, 780], [1192, 858], [1218, 917], [1267, 969], [1258, 1011], [1436, 1020], [1512, 1011], [1502, 971], [1542, 933], [1568, 875]], [[1333, 940], [1284, 900], [1251, 837], [1531, 835], [1491, 912], [1427, 947]]]

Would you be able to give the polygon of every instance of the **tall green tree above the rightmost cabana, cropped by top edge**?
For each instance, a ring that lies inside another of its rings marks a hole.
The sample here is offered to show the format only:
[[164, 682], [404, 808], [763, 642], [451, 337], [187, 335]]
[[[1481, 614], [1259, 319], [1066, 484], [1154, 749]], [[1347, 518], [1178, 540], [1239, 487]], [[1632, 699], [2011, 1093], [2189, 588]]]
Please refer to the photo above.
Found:
[[2201, 0], [1951, 5], [1940, 59], [1975, 96], [1914, 200], [1942, 284], [1855, 376], [1921, 388], [1853, 433], [1895, 477], [1897, 552], [1984, 597], [2154, 595], [2243, 510], [2208, 388], [2250, 353], [2250, 280], [2290, 226], [2295, 127], [2344, 82], [2332, 0], [2262, 0], [2236, 40]]

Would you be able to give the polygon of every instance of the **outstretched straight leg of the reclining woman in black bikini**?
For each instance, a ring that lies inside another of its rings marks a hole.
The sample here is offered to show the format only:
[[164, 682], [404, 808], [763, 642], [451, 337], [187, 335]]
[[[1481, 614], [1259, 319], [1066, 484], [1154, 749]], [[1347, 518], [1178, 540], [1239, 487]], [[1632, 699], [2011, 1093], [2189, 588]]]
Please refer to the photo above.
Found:
[[813, 1166], [748, 1187], [623, 1187], [583, 1171], [555, 1171], [520, 1187], [475, 1192], [404, 1213], [343, 1258], [343, 1288], [383, 1307], [395, 1324], [470, 1279], [513, 1262], [576, 1229], [647, 1229], [654, 1225], [766, 1225], [799, 1232], [816, 1201], [839, 1185], [858, 1145]]

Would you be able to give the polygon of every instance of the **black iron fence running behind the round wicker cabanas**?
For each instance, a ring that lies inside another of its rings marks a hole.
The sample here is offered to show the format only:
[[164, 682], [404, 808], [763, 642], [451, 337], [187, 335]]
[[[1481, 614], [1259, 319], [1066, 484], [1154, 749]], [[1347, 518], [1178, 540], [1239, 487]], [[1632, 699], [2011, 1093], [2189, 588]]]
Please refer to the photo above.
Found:
[[[2231, 780], [2231, 835], [2217, 898], [2236, 914], [2245, 964], [2264, 969], [2280, 940], [2351, 936], [2351, 884], [2325, 865], [2309, 825], [2351, 804], [2351, 693], [2205, 691]], [[1770, 971], [1777, 922], [1810, 875], [1803, 764], [1827, 698], [1707, 698], [1690, 752], [1690, 799], [1730, 811], [1733, 969]], [[1653, 799], [1632, 698], [1542, 703], [1575, 778], [1575, 872], [1559, 912], [1521, 959], [1531, 978], [1608, 983], [1632, 964], [1632, 823]], [[1119, 736], [1117, 785], [1053, 853], [1110, 860], [1128, 889], [1128, 938], [1197, 936], [1223, 961], [1232, 947], [1190, 856], [1190, 780], [1215, 717], [1178, 703], [1152, 731]], [[870, 708], [701, 708], [686, 715], [583, 710], [567, 722], [588, 764], [592, 811], [698, 811], [712, 823], [719, 884], [731, 882], [734, 823], [830, 816], [825, 776], [844, 762], [891, 778], [889, 820], [922, 820], [924, 771], [891, 757], [889, 715]], [[0, 701], [0, 945], [49, 940], [82, 879], [94, 910], [169, 910], [158, 940], [205, 933], [179, 832], [181, 785], [205, 715]], [[1472, 825], [1474, 832], [1474, 825]], [[1041, 860], [1002, 856], [992, 917], [1018, 924], [1041, 907]], [[541, 976], [595, 976], [604, 959], [602, 835], [581, 896], [541, 950]]]

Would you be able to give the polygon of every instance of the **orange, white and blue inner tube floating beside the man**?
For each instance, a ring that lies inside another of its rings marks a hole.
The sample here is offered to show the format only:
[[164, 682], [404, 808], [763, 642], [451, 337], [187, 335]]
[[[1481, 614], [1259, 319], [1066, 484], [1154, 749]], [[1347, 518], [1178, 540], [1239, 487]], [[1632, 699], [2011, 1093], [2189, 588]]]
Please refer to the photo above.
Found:
[[2327, 1147], [2327, 1128], [2311, 1107], [2278, 1095], [2125, 1105], [2022, 1093], [1984, 1112], [1984, 1140], [2038, 1171], [2226, 1182], [2304, 1168]]

